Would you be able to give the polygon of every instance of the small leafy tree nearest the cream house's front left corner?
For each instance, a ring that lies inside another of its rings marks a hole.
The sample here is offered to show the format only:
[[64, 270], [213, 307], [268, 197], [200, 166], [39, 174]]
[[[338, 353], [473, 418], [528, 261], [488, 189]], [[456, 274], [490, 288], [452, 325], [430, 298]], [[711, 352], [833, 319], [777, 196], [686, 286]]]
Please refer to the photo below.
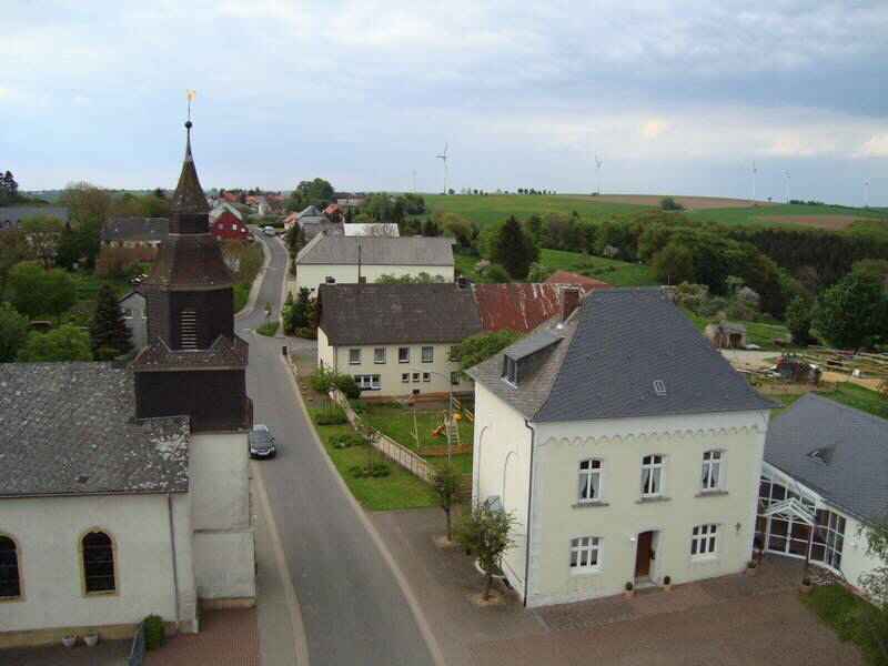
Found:
[[500, 569], [503, 554], [517, 543], [512, 532], [515, 523], [512, 512], [477, 502], [454, 526], [456, 542], [478, 558], [484, 571], [484, 601], [491, 598], [493, 574]]

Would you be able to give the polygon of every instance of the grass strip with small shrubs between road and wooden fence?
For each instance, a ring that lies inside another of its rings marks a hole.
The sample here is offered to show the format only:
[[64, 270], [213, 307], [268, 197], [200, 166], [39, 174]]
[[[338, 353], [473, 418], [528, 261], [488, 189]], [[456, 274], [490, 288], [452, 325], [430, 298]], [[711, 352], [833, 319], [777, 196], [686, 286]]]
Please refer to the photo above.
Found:
[[[309, 414], [312, 417], [324, 412], [324, 407], [309, 406]], [[369, 511], [387, 511], [392, 508], [414, 508], [420, 506], [436, 506], [432, 487], [410, 472], [402, 470], [381, 453], [374, 453], [374, 462], [385, 462], [389, 464], [391, 474], [382, 477], [354, 478], [350, 473], [354, 466], [365, 466], [367, 463], [367, 452], [363, 446], [351, 446], [349, 448], [335, 448], [330, 444], [330, 438], [343, 433], [352, 432], [350, 425], [314, 425], [321, 442], [324, 444], [330, 460], [336, 471], [345, 481], [345, 485], [352, 491], [355, 500]]]

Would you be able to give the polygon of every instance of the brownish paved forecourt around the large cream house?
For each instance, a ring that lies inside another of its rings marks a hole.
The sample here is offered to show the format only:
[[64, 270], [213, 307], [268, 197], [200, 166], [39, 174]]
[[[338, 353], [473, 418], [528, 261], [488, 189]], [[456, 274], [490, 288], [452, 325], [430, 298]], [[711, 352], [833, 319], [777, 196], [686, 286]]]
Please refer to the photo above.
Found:
[[441, 509], [371, 513], [423, 604], [450, 666], [571, 664], [861, 664], [800, 602], [801, 564], [768, 557], [757, 575], [720, 576], [623, 596], [527, 609], [516, 595], [477, 607], [481, 576], [440, 548]]

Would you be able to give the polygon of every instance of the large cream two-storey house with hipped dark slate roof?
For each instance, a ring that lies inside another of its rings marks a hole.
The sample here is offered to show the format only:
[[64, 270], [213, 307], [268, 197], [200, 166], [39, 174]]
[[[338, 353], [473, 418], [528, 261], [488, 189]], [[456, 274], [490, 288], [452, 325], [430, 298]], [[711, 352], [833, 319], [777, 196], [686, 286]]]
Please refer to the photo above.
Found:
[[738, 573], [773, 402], [657, 289], [593, 290], [473, 367], [473, 497], [513, 512], [503, 571], [539, 606]]

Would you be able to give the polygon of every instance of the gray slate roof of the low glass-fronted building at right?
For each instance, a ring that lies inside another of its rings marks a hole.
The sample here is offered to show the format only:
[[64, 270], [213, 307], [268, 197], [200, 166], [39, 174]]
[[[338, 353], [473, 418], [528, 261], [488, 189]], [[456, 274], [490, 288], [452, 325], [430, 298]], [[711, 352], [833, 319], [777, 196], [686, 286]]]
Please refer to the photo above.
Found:
[[768, 425], [765, 461], [859, 518], [888, 513], [885, 418], [808, 393]]

